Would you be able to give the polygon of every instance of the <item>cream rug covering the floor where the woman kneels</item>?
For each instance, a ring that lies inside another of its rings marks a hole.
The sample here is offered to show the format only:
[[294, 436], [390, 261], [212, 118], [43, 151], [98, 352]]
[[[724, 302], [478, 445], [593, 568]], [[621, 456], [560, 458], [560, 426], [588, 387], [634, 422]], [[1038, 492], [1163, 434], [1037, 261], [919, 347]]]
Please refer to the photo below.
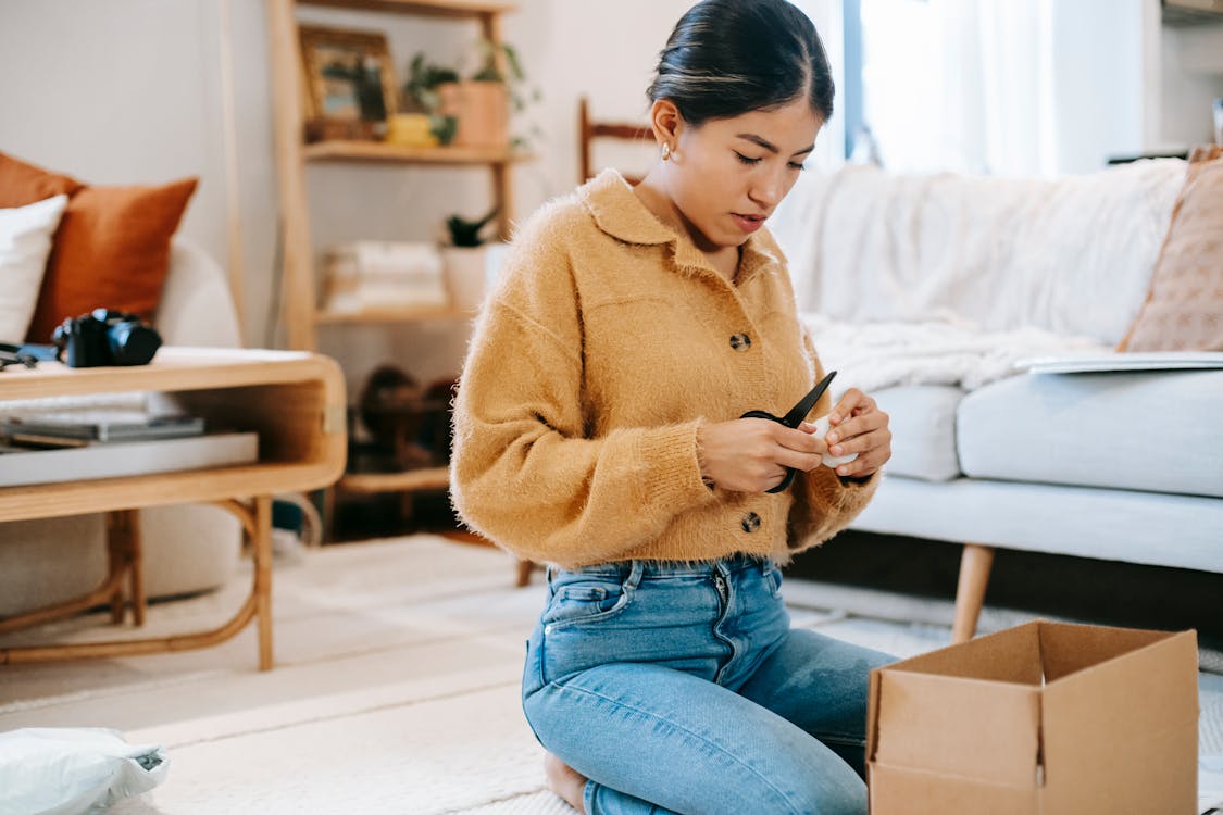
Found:
[[[256, 670], [253, 629], [201, 651], [0, 666], [0, 732], [113, 727], [164, 745], [169, 780], [120, 815], [571, 811], [544, 789], [519, 704], [538, 574], [515, 589], [503, 554], [421, 535], [312, 550], [278, 563], [274, 584], [274, 671]], [[158, 604], [147, 633], [215, 623], [245, 591], [243, 577]], [[949, 640], [921, 600], [796, 580], [786, 596], [795, 624], [898, 656]], [[927, 622], [863, 619], [855, 606]], [[2, 641], [53, 634], [116, 635], [95, 616]], [[1203, 754], [1223, 754], [1223, 677], [1202, 677]]]

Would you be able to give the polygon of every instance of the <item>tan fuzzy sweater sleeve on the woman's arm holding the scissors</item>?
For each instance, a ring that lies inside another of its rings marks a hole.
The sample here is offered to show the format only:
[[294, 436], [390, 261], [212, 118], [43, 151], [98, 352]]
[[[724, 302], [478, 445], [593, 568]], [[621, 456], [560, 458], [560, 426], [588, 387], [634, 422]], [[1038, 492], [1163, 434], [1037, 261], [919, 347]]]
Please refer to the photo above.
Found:
[[555, 230], [539, 232], [516, 242], [468, 349], [451, 499], [470, 528], [522, 558], [621, 560], [715, 500], [701, 481], [700, 423], [591, 437], [572, 268]]

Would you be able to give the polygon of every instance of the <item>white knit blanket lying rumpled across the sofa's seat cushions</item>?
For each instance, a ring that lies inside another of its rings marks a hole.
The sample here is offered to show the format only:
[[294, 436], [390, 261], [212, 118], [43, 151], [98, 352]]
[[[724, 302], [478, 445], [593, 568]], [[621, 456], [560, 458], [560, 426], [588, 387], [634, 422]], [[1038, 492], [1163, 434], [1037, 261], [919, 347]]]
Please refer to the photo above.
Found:
[[852, 323], [805, 313], [819, 362], [837, 370], [835, 392], [866, 392], [894, 385], [959, 385], [974, 390], [1015, 374], [1025, 357], [1108, 351], [1091, 337], [1042, 329], [981, 331], [964, 320]]

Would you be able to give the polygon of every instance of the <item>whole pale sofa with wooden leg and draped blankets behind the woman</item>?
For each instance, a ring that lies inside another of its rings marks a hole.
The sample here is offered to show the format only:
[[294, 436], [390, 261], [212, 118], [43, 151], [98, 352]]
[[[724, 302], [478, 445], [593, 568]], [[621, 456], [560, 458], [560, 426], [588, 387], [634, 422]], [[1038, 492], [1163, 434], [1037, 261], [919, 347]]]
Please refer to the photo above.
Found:
[[893, 461], [854, 528], [966, 544], [958, 640], [994, 547], [1223, 572], [1223, 370], [1014, 368], [1125, 336], [1184, 174], [849, 166], [804, 180], [773, 219], [834, 390], [859, 385], [892, 417]]

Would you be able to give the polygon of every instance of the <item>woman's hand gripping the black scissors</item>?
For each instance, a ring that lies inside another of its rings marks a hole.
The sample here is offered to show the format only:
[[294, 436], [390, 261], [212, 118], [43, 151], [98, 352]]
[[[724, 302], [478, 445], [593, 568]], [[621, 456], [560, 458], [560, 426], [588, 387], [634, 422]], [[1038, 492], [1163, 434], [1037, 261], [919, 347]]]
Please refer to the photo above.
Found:
[[788, 467], [819, 467], [828, 446], [804, 422], [791, 429], [768, 419], [733, 419], [697, 430], [701, 474], [724, 490], [763, 492], [781, 483]]

